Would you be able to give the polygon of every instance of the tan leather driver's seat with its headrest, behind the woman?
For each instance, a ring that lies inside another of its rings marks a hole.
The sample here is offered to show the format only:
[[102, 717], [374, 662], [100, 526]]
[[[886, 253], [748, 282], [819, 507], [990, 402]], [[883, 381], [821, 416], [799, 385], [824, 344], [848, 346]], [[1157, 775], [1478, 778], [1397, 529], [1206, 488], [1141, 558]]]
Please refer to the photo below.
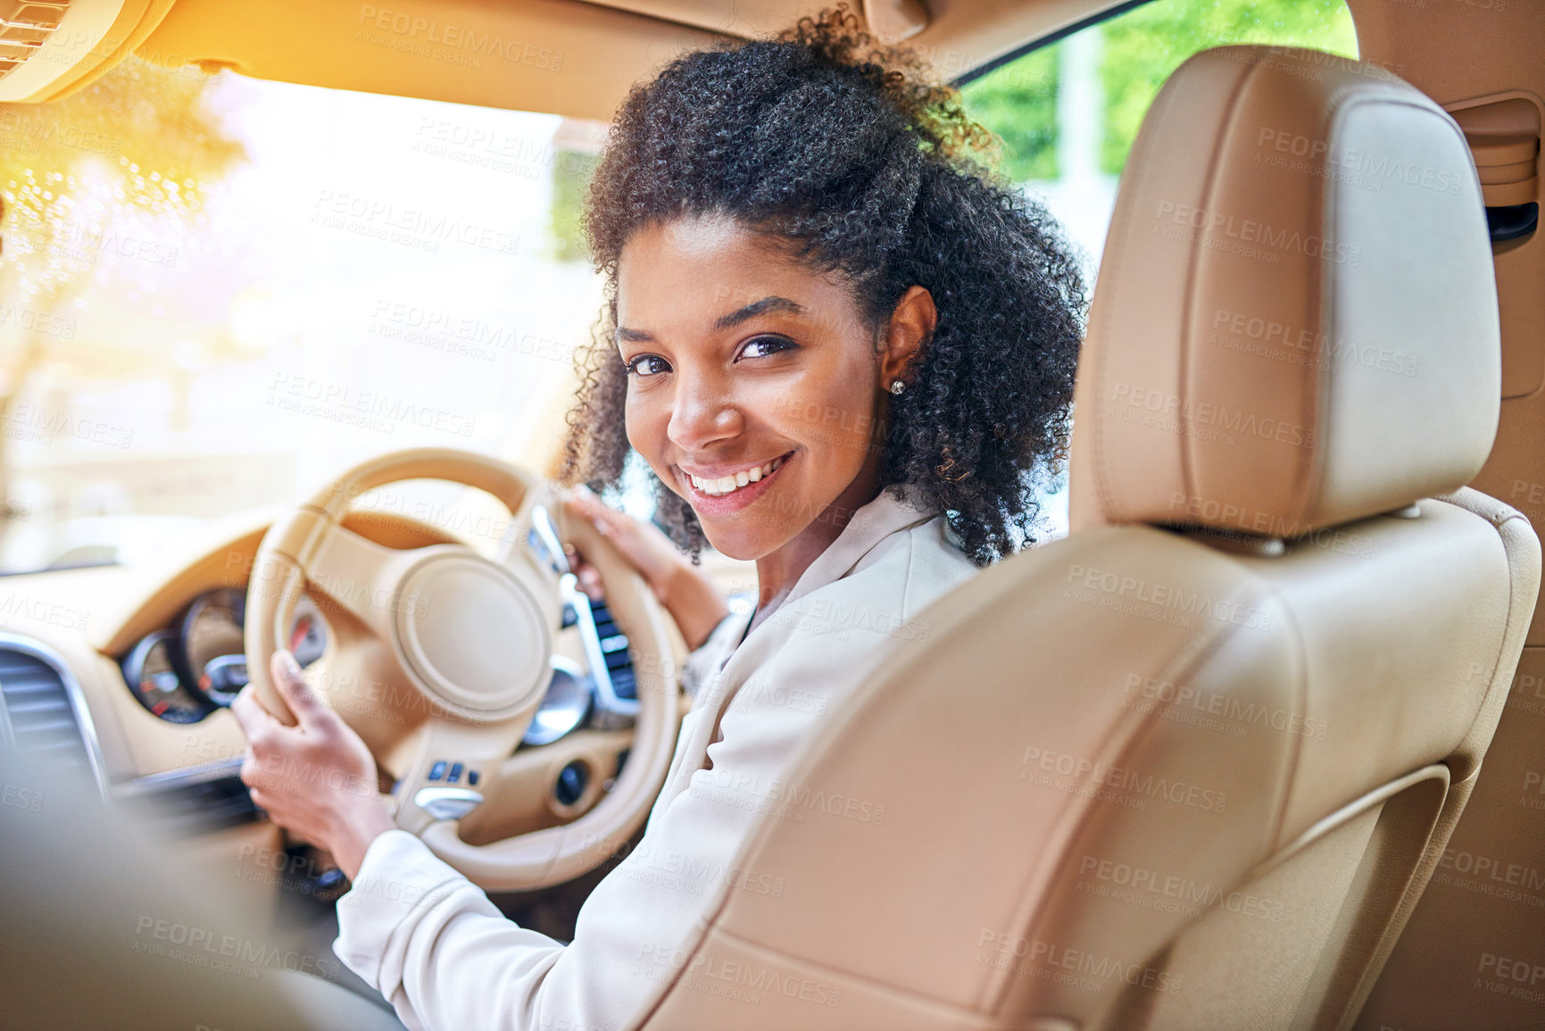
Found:
[[1463, 488], [1489, 257], [1465, 139], [1403, 82], [1176, 71], [1095, 289], [1072, 535], [935, 603], [791, 756], [644, 1026], [1349, 1023], [1539, 584], [1528, 522]]

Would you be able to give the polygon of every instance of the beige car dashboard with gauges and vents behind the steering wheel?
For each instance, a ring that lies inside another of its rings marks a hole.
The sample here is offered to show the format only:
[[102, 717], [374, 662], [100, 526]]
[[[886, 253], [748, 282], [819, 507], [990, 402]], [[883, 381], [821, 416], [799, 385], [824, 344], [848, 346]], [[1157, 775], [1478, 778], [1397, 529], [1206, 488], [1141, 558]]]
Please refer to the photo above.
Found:
[[[247, 682], [247, 580], [280, 513], [266, 507], [212, 524], [154, 567], [0, 580], [0, 742], [32, 756], [49, 776], [91, 778], [105, 798], [199, 849], [278, 853], [277, 829], [241, 784], [246, 739], [229, 706]], [[386, 547], [480, 546], [406, 515], [349, 513], [343, 522]], [[528, 544], [541, 553], [538, 539]], [[328, 655], [335, 621], [348, 618], [326, 595], [303, 595], [287, 638], [303, 668]], [[312, 674], [326, 677], [324, 666]], [[565, 600], [552, 666], [547, 697], [513, 757], [541, 781], [528, 785], [535, 798], [491, 798], [482, 822], [468, 821], [470, 836], [567, 822], [610, 790], [627, 759], [637, 713], [632, 658], [604, 603], [578, 594]], [[592, 675], [595, 669], [604, 675]], [[538, 748], [542, 762], [533, 764], [525, 753]], [[465, 784], [462, 778], [454, 765], [442, 771], [447, 784]], [[315, 864], [307, 870], [318, 881], [307, 890], [331, 876]]]

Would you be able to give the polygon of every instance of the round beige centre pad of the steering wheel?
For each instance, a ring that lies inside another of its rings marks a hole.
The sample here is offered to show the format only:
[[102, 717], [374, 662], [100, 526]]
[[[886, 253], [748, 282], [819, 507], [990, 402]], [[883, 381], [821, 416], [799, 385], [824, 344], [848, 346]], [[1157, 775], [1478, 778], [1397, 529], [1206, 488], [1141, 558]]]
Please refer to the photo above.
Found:
[[408, 572], [400, 597], [405, 665], [453, 716], [504, 719], [547, 686], [550, 617], [510, 569], [476, 555], [436, 555]]

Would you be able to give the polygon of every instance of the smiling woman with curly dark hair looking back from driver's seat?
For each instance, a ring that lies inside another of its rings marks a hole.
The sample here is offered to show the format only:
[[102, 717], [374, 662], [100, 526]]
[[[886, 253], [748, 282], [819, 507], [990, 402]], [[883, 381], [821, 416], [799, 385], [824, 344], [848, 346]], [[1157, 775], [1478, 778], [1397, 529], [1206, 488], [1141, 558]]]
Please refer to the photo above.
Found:
[[[735, 856], [757, 821], [802, 818], [788, 757], [927, 635], [932, 601], [1034, 541], [1083, 284], [990, 145], [845, 9], [680, 57], [627, 97], [587, 199], [609, 303], [562, 478], [616, 487], [637, 453], [675, 541], [575, 493], [694, 646], [695, 705], [643, 839], [565, 946], [505, 920], [374, 795], [314, 787], [374, 784], [374, 760], [287, 654], [273, 675], [297, 728], [236, 703], [255, 801], [351, 876], [334, 949], [408, 1026], [637, 1023], [715, 893], [748, 886]], [[700, 575], [705, 543], [756, 561], [749, 618]], [[263, 773], [318, 767], [338, 776]]]

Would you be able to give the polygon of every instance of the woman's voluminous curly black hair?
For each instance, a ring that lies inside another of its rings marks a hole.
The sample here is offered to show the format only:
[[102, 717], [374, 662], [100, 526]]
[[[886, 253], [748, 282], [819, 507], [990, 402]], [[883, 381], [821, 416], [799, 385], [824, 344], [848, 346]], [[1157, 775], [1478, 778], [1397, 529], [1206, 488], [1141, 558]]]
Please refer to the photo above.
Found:
[[[630, 447], [616, 269], [641, 227], [731, 215], [839, 274], [870, 326], [921, 284], [938, 325], [890, 397], [881, 485], [915, 484], [986, 566], [1026, 544], [1068, 458], [1085, 284], [1046, 210], [997, 170], [998, 141], [907, 46], [847, 5], [779, 36], [684, 54], [633, 87], [586, 196], [606, 297], [576, 359], [562, 484], [620, 487]], [[691, 504], [650, 471], [657, 521], [692, 561]]]

